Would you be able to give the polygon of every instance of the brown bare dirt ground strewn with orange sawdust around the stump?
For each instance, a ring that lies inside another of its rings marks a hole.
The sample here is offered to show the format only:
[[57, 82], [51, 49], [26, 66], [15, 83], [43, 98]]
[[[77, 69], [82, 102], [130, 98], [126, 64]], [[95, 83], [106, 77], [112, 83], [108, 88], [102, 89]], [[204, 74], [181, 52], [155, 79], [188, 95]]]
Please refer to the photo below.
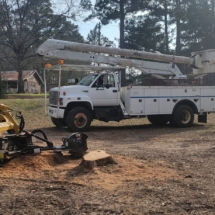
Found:
[[[41, 120], [26, 129], [42, 128], [55, 144], [70, 134]], [[0, 168], [0, 214], [215, 214], [214, 132], [214, 114], [187, 129], [94, 122], [89, 150], [116, 164], [88, 170], [52, 152], [17, 157]]]

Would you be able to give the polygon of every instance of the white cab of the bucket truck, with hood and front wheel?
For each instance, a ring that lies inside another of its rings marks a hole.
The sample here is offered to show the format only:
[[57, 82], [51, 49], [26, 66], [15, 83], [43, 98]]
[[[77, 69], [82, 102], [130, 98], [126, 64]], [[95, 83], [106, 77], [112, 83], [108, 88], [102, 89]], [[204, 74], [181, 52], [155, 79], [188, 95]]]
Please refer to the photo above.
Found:
[[122, 118], [117, 72], [93, 73], [77, 85], [52, 88], [48, 115], [58, 126], [86, 130], [93, 119], [119, 121]]

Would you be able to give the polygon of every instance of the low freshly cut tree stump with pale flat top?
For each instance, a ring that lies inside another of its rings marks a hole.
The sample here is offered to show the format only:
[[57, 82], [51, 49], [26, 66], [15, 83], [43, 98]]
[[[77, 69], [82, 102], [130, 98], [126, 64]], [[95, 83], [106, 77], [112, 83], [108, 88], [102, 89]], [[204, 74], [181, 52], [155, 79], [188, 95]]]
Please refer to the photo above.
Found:
[[116, 163], [113, 158], [104, 150], [91, 151], [83, 156], [81, 165], [92, 169], [96, 166], [106, 166], [108, 164]]

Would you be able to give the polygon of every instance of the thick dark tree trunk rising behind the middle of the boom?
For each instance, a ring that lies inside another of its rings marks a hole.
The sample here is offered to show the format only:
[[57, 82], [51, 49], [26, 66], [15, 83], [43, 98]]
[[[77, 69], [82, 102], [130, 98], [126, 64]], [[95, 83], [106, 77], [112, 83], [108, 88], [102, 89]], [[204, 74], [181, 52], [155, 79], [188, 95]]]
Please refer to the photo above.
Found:
[[125, 48], [125, 10], [124, 0], [120, 0], [120, 41], [119, 47]]

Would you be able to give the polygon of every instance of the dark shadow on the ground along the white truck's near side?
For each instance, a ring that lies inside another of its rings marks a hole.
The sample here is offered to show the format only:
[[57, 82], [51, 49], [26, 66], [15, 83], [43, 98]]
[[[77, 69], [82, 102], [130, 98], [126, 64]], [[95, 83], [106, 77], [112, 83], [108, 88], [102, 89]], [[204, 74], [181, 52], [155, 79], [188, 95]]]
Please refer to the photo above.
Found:
[[[53, 142], [60, 142], [62, 138], [67, 137], [72, 132], [69, 128], [57, 128], [57, 127], [45, 127], [40, 128], [43, 130], [48, 139]], [[124, 139], [123, 144], [131, 144], [138, 142], [147, 142], [152, 138], [168, 138], [169, 135], [181, 135], [184, 136], [185, 132], [205, 132], [211, 131], [208, 126], [203, 124], [194, 124], [189, 128], [176, 128], [170, 124], [166, 126], [154, 126], [152, 124], [144, 125], [105, 125], [105, 126], [91, 126], [89, 131], [82, 132], [88, 135], [90, 141], [105, 141], [112, 144], [112, 142]], [[212, 132], [212, 131], [211, 131]], [[165, 136], [167, 135], [167, 136]], [[121, 141], [120, 141], [121, 142]]]

